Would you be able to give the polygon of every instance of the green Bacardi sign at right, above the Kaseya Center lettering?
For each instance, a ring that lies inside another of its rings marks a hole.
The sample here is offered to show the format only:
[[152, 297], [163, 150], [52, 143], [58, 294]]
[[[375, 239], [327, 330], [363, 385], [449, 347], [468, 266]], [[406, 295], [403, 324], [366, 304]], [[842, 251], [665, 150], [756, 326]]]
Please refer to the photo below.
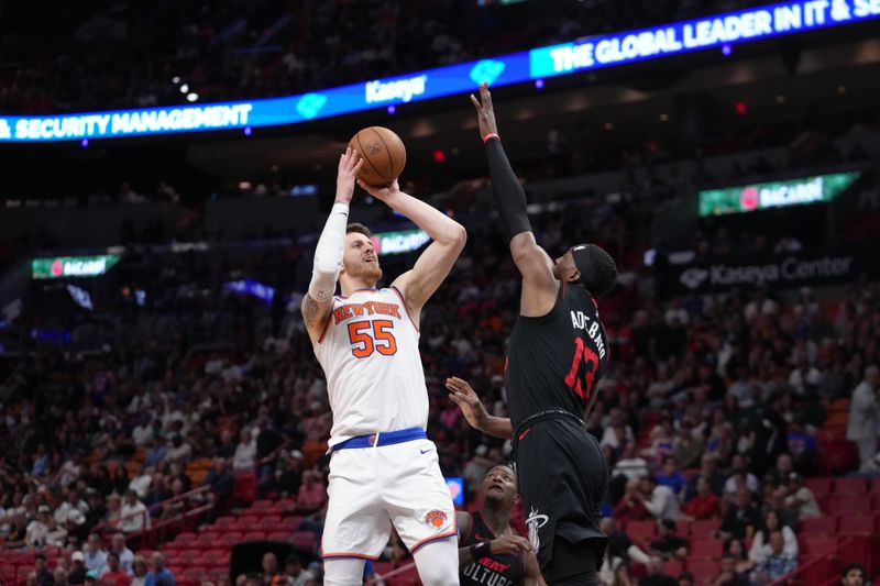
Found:
[[705, 189], [700, 191], [700, 215], [744, 213], [832, 201], [858, 178], [857, 172], [834, 173], [784, 181]]

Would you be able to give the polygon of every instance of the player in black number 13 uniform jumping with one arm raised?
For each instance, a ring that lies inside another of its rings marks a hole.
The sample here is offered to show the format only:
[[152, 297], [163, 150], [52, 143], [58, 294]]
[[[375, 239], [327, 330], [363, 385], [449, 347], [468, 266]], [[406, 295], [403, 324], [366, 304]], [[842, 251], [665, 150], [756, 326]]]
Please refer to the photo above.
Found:
[[498, 139], [485, 84], [480, 98], [471, 96], [492, 191], [522, 276], [505, 386], [529, 540], [548, 584], [598, 584], [607, 542], [600, 507], [608, 472], [583, 418], [608, 358], [595, 297], [612, 290], [617, 268], [594, 244], [573, 246], [553, 262], [535, 242], [526, 195]]

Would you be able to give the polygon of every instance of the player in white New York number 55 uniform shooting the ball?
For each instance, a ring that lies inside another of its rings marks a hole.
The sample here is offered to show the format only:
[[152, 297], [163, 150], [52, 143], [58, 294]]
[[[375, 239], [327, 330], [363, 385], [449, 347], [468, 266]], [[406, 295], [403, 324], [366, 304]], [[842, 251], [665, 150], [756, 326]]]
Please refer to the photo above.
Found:
[[[464, 228], [394, 181], [359, 183], [425, 230], [433, 242], [389, 288], [370, 231], [349, 224], [362, 161], [339, 161], [336, 203], [315, 251], [302, 318], [327, 376], [330, 502], [323, 530], [324, 584], [362, 584], [364, 560], [378, 557], [392, 523], [427, 586], [459, 584], [455, 509], [427, 439], [428, 390], [419, 355], [419, 314], [459, 257]], [[341, 295], [334, 296], [337, 280]]]

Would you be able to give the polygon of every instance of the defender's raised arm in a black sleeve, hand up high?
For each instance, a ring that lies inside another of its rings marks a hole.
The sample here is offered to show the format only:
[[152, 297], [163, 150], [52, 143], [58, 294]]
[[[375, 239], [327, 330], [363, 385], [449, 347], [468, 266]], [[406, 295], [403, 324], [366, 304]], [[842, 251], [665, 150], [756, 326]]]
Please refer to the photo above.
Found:
[[507, 229], [514, 263], [522, 275], [520, 313], [530, 317], [544, 316], [553, 308], [559, 287], [553, 276], [553, 262], [535, 241], [526, 213], [526, 192], [519, 185], [498, 137], [488, 85], [480, 84], [480, 100], [471, 95], [471, 101], [476, 108], [480, 135], [486, 145], [495, 207]]

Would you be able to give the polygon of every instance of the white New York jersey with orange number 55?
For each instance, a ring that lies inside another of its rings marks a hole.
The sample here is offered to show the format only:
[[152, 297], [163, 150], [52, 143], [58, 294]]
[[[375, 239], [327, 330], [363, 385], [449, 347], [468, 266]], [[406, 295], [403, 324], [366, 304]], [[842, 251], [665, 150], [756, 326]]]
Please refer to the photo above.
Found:
[[396, 287], [334, 297], [315, 355], [327, 376], [330, 445], [428, 425], [419, 332]]

